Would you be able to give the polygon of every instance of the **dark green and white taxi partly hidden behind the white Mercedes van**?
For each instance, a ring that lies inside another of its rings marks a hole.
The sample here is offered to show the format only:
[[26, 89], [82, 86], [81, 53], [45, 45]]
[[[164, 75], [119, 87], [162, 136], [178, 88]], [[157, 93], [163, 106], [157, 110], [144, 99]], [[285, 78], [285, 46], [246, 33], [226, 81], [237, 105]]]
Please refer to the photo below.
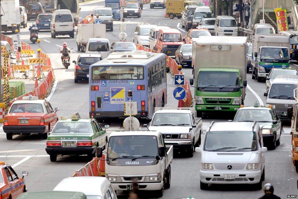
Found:
[[240, 107], [235, 114], [234, 121], [257, 121], [261, 128], [264, 145], [275, 149], [280, 144], [282, 122], [271, 105], [264, 107], [256, 102], [253, 107]]

